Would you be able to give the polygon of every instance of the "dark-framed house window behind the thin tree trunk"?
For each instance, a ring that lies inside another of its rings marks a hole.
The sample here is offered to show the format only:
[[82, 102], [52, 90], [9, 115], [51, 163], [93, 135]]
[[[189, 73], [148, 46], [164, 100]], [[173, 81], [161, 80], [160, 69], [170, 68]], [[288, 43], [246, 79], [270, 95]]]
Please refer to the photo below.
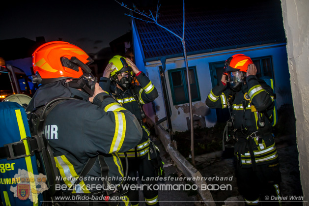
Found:
[[[188, 103], [189, 93], [186, 68], [171, 69], [168, 70], [168, 74], [173, 105]], [[192, 102], [200, 101], [197, 71], [195, 66], [189, 67], [189, 82]]]

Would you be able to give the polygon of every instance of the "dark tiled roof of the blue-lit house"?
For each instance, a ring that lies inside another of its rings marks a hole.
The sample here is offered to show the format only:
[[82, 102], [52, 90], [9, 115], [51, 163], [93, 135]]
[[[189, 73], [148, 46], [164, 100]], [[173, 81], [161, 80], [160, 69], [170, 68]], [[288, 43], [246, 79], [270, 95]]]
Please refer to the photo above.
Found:
[[[183, 8], [162, 5], [159, 13], [159, 24], [182, 36]], [[145, 60], [183, 55], [175, 35], [153, 23], [135, 22]], [[185, 6], [188, 55], [285, 41], [280, 0]]]

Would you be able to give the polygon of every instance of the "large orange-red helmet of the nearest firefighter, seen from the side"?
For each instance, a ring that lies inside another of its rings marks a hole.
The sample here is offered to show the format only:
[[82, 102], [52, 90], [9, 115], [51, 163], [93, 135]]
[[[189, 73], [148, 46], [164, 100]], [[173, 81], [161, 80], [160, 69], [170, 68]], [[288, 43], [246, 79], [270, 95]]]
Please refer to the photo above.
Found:
[[93, 60], [79, 47], [64, 41], [52, 41], [38, 47], [32, 54], [32, 81], [48, 84], [62, 79], [80, 79], [91, 73], [87, 64]]

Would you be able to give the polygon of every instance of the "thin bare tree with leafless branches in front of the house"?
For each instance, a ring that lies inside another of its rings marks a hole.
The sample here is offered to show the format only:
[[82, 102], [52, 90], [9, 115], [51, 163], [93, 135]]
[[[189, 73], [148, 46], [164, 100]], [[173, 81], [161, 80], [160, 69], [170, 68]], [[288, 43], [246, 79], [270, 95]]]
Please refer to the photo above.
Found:
[[129, 8], [126, 4], [123, 2], [120, 3], [117, 0], [115, 0], [117, 3], [119, 3], [121, 6], [129, 9], [133, 13], [136, 13], [142, 17], [143, 19], [135, 17], [131, 14], [125, 14], [127, 16], [130, 16], [135, 19], [139, 19], [141, 21], [144, 21], [146, 23], [153, 23], [156, 24], [158, 27], [161, 27], [162, 29], [165, 29], [172, 33], [174, 36], [180, 39], [183, 47], [183, 54], [185, 58], [185, 64], [186, 64], [186, 71], [187, 71], [187, 84], [188, 84], [188, 93], [189, 93], [189, 108], [190, 108], [190, 130], [191, 130], [191, 156], [192, 156], [192, 164], [195, 166], [195, 155], [194, 155], [194, 128], [193, 128], [193, 112], [192, 112], [192, 98], [191, 98], [191, 88], [190, 88], [190, 78], [189, 78], [189, 68], [188, 68], [188, 59], [187, 59], [187, 53], [186, 53], [186, 42], [185, 42], [185, 1], [183, 0], [183, 28], [182, 28], [182, 36], [179, 36], [172, 30], [168, 29], [167, 27], [161, 25], [158, 23], [159, 19], [159, 9], [161, 4], [159, 4], [159, 0], [157, 3], [157, 10], [155, 13], [153, 13], [151, 10], [149, 10], [149, 13], [145, 11], [140, 11], [135, 5], [133, 5], [133, 9]]

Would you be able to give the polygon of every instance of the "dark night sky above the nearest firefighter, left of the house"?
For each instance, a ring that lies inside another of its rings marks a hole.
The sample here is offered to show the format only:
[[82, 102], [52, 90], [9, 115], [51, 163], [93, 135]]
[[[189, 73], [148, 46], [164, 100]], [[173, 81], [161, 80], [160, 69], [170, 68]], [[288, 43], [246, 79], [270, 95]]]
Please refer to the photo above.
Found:
[[127, 12], [114, 0], [2, 1], [0, 40], [44, 36], [96, 53], [131, 29]]

